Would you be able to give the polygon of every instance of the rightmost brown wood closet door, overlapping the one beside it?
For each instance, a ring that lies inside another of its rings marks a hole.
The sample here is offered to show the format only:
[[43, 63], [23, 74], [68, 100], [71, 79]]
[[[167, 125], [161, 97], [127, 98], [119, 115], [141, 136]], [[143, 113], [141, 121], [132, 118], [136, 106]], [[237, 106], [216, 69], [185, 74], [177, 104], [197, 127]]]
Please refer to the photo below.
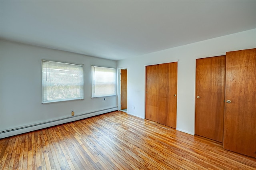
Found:
[[256, 49], [226, 53], [223, 147], [256, 157]]

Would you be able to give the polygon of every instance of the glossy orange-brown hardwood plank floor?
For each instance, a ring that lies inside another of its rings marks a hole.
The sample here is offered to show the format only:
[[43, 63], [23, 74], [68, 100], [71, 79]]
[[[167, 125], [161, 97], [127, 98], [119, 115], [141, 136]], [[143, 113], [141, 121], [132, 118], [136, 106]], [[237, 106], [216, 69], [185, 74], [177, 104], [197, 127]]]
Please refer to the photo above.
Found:
[[256, 169], [218, 142], [115, 111], [0, 140], [0, 169]]

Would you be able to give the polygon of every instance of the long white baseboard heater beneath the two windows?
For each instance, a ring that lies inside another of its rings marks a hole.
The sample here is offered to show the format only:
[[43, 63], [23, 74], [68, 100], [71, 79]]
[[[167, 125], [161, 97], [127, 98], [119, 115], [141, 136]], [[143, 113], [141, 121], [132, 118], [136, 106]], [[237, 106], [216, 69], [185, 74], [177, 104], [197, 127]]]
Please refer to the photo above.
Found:
[[3, 130], [3, 131], [0, 132], [0, 138], [6, 138], [6, 137], [9, 137], [9, 136], [14, 136], [16, 134], [31, 132], [33, 130], [52, 127], [52, 126], [56, 126], [56, 125], [60, 125], [60, 124], [68, 123], [68, 122], [72, 122], [72, 121], [78, 121], [80, 119], [85, 119], [85, 118], [88, 118], [88, 117], [101, 115], [101, 114], [104, 114], [104, 113], [117, 111], [117, 110], [118, 110], [117, 107], [113, 107], [113, 108], [110, 108], [110, 109], [104, 109], [104, 110], [100, 110], [100, 111], [84, 113], [84, 114], [80, 114], [80, 115], [75, 115], [75, 116], [71, 116], [71, 117], [66, 117], [66, 118], [62, 118], [62, 119], [53, 120], [53, 121], [37, 123], [37, 124], [34, 124], [34, 125], [28, 125], [28, 126], [25, 126], [25, 127]]

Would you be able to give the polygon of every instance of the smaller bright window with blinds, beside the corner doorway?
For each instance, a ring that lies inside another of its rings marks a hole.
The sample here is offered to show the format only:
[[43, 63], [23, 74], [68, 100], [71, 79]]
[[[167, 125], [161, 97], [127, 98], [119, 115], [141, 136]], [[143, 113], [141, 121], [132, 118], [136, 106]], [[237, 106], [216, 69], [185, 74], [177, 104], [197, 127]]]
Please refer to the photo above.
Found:
[[92, 66], [92, 97], [116, 95], [116, 69]]

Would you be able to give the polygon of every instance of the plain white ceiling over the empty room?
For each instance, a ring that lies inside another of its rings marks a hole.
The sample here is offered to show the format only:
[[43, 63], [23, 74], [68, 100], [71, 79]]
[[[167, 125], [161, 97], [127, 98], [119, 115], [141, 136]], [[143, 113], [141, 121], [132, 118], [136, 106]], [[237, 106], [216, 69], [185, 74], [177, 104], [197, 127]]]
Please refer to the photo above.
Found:
[[4, 1], [2, 39], [120, 60], [256, 28], [256, 1]]

